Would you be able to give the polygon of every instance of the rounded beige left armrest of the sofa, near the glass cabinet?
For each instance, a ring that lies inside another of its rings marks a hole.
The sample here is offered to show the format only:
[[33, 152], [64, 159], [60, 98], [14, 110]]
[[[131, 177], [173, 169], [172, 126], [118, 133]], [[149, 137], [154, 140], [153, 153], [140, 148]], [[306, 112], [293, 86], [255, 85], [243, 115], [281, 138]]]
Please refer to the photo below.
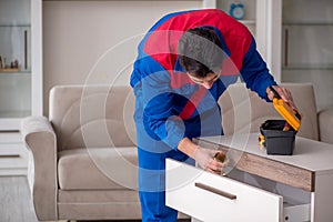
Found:
[[28, 117], [21, 122], [21, 133], [32, 154], [28, 180], [40, 221], [57, 220], [57, 138], [44, 117]]

